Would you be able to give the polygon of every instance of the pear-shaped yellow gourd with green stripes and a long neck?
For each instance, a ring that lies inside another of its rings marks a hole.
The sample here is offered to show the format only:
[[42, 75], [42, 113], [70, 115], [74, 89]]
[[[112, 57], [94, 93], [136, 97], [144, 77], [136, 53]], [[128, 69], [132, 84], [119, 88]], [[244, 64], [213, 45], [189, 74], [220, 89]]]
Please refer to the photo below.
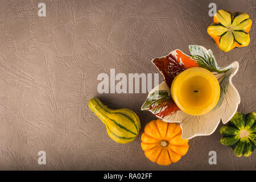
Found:
[[109, 137], [115, 142], [129, 143], [138, 136], [141, 122], [134, 111], [129, 109], [109, 109], [98, 98], [90, 99], [89, 107], [106, 125]]

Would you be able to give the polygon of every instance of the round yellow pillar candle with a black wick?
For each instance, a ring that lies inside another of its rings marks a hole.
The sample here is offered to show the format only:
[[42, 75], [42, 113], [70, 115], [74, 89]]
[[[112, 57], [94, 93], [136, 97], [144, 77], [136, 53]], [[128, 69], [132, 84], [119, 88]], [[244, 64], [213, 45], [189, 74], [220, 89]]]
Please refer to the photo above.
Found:
[[217, 105], [220, 98], [220, 84], [207, 69], [189, 68], [172, 81], [171, 95], [184, 113], [203, 115]]

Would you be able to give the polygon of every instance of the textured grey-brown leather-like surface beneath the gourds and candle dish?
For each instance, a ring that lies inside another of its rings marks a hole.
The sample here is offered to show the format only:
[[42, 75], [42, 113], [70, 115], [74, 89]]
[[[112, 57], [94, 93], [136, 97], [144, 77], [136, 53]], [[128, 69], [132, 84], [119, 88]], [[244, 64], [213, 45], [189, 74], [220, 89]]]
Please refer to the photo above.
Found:
[[[38, 16], [38, 3], [47, 16]], [[253, 26], [246, 48], [224, 53], [207, 34], [210, 2], [242, 11]], [[141, 111], [147, 94], [98, 94], [99, 73], [158, 73], [151, 59], [189, 44], [212, 49], [220, 66], [238, 61], [233, 83], [239, 111], [255, 111], [256, 1], [0, 1], [0, 169], [256, 169], [256, 152], [238, 158], [219, 142], [218, 132], [189, 140], [177, 163], [162, 167], [141, 149], [141, 134], [117, 144], [88, 108], [97, 96], [113, 109], [134, 110], [142, 130], [154, 119]], [[160, 77], [162, 80], [162, 77]], [[160, 82], [160, 81], [159, 81]], [[44, 150], [47, 164], [39, 165]], [[217, 165], [208, 152], [217, 152]]]

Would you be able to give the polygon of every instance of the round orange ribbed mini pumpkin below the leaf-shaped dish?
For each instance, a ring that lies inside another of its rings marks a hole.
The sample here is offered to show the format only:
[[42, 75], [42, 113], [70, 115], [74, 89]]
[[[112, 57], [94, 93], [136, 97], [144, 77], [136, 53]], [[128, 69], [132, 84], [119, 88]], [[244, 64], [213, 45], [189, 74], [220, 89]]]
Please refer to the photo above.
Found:
[[141, 140], [146, 157], [159, 165], [175, 163], [188, 151], [188, 139], [181, 138], [180, 126], [160, 119], [147, 123]]

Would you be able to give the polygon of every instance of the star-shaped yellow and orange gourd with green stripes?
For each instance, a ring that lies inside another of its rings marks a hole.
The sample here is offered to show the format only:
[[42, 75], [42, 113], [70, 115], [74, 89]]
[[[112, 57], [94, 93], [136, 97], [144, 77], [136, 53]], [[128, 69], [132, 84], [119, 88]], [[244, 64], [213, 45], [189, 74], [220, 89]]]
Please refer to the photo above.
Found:
[[218, 10], [207, 32], [224, 52], [235, 47], [245, 47], [250, 43], [251, 19], [241, 12]]

